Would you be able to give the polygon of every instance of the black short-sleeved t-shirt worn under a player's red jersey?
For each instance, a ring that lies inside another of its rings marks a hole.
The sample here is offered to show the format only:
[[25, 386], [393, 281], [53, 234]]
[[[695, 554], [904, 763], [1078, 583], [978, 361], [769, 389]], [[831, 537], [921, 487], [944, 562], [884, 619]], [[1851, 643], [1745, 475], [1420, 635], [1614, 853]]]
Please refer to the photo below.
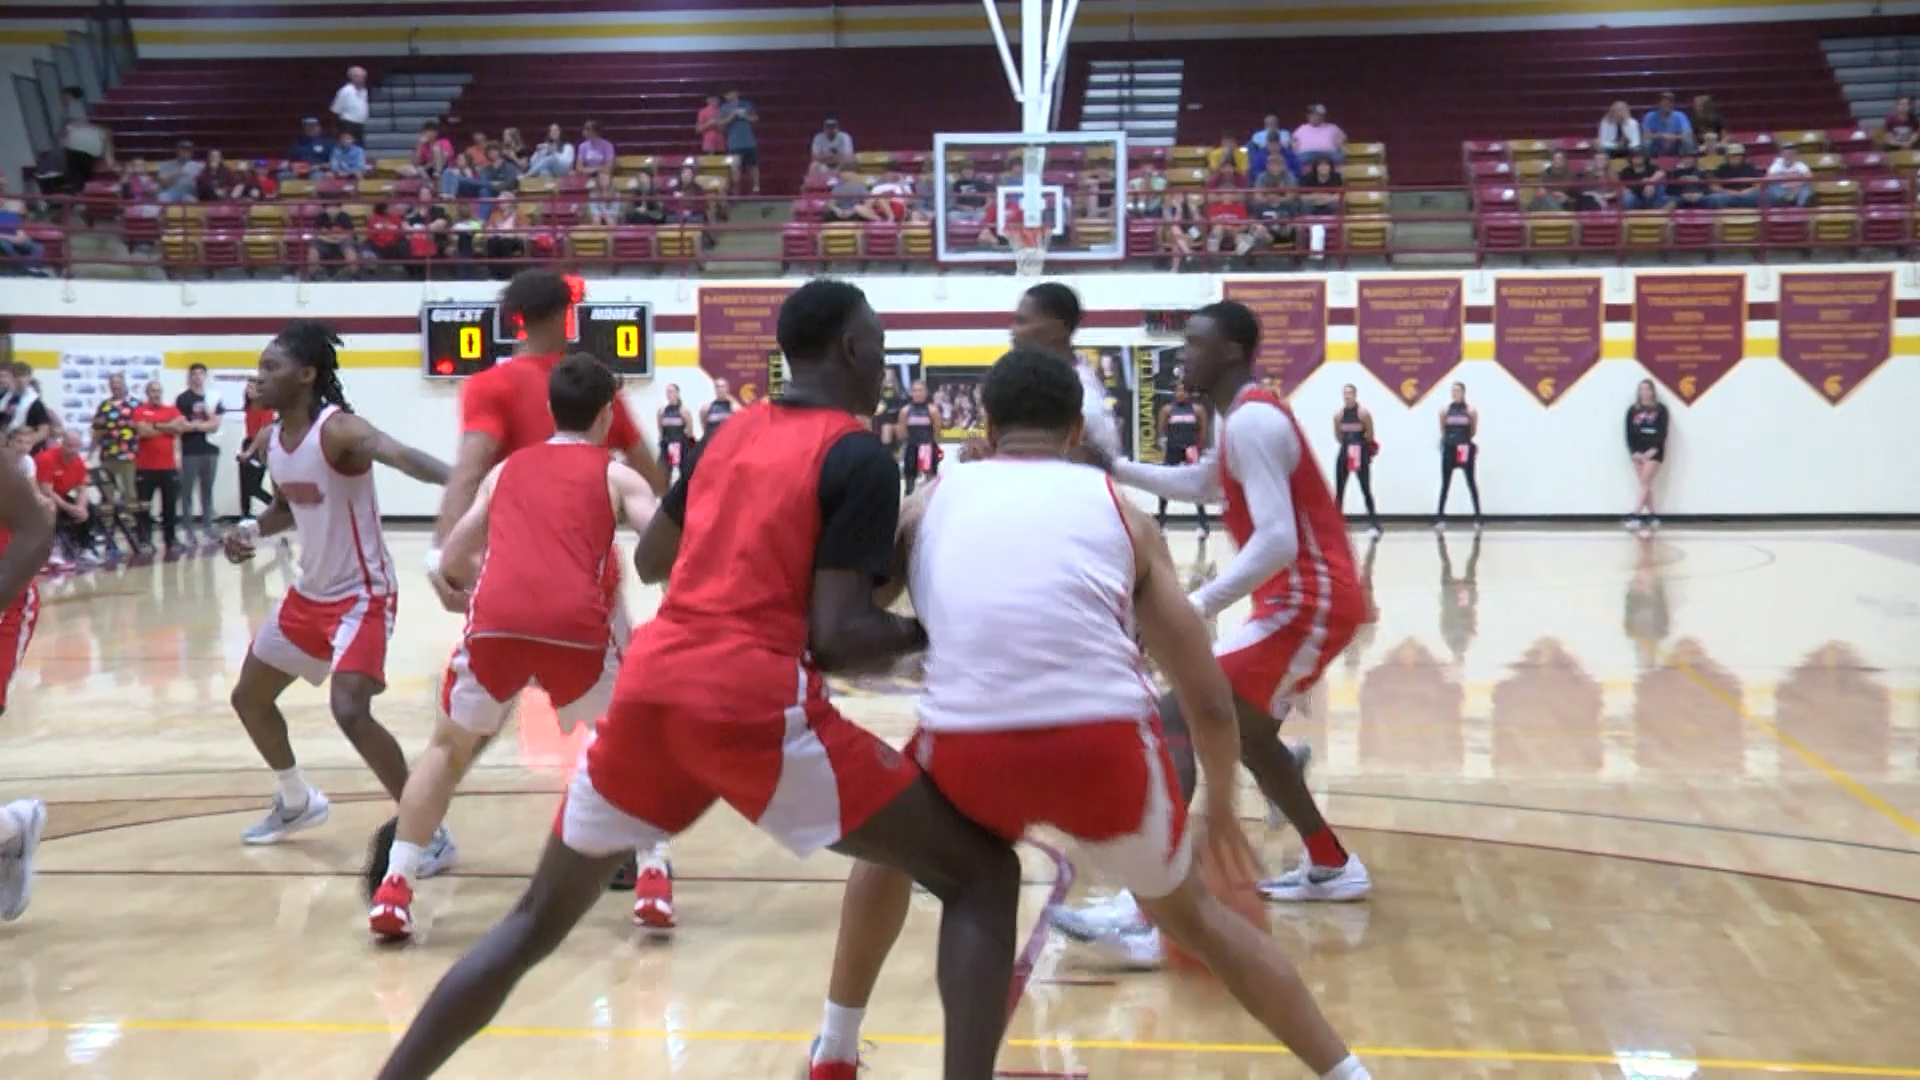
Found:
[[[787, 405], [780, 400], [776, 407]], [[660, 513], [674, 525], [687, 521], [687, 484], [699, 471], [703, 442], [687, 457], [680, 480], [660, 500]], [[893, 454], [870, 430], [847, 432], [820, 463], [820, 544], [816, 571], [862, 571], [874, 580], [893, 577], [893, 534], [900, 525], [900, 475]]]

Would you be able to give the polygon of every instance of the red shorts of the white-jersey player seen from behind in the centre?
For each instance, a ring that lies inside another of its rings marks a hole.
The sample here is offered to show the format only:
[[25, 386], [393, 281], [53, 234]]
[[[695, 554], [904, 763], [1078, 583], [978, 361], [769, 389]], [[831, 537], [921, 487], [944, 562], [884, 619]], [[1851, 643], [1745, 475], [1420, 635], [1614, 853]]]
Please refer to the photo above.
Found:
[[1035, 824], [1073, 838], [1098, 874], [1144, 897], [1167, 896], [1192, 867], [1187, 801], [1160, 717], [1058, 728], [914, 734], [933, 786], [1000, 840]]

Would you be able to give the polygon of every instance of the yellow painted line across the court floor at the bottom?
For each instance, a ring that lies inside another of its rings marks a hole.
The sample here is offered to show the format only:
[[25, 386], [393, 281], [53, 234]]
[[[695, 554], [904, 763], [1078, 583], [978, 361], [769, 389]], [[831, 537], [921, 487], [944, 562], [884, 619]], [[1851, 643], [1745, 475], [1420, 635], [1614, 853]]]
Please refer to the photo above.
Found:
[[[301, 1020], [113, 1020], [127, 1032], [165, 1032], [165, 1034], [276, 1034], [276, 1036], [394, 1036], [399, 1028], [390, 1024], [344, 1024], [344, 1022], [301, 1022]], [[0, 1032], [65, 1032], [98, 1030], [100, 1020], [67, 1024], [58, 1020], [0, 1020]], [[482, 1038], [507, 1040], [682, 1040], [707, 1043], [793, 1043], [804, 1045], [818, 1032], [695, 1032], [695, 1030], [655, 1030], [655, 1028], [543, 1028], [543, 1026], [493, 1026], [480, 1032]], [[941, 1036], [872, 1034], [866, 1042], [877, 1045], [941, 1045]], [[1018, 1049], [1108, 1049], [1123, 1053], [1223, 1053], [1223, 1055], [1284, 1055], [1277, 1043], [1238, 1043], [1238, 1042], [1123, 1042], [1123, 1040], [1006, 1040]], [[1411, 1047], [1411, 1045], [1356, 1045], [1361, 1057], [1394, 1061], [1476, 1061], [1513, 1065], [1620, 1065], [1620, 1055], [1613, 1053], [1555, 1053], [1534, 1049], [1498, 1047]], [[1680, 1057], [1701, 1070], [1722, 1072], [1780, 1072], [1799, 1076], [1895, 1076], [1920, 1078], [1920, 1065], [1845, 1065], [1832, 1061], [1763, 1061], [1734, 1057]]]

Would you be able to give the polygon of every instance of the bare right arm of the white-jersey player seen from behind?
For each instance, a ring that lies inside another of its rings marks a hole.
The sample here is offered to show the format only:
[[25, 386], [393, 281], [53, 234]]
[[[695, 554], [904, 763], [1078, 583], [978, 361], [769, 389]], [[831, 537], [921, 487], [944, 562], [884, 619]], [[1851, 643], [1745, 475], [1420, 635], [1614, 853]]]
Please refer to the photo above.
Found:
[[1206, 776], [1210, 799], [1223, 798], [1225, 817], [1233, 817], [1235, 776], [1240, 767], [1240, 724], [1233, 711], [1233, 686], [1213, 659], [1206, 623], [1187, 603], [1173, 555], [1167, 552], [1167, 538], [1133, 503], [1123, 502], [1119, 515], [1133, 534], [1135, 617], [1140, 642], [1173, 684], [1173, 698], [1187, 717], [1194, 759]]

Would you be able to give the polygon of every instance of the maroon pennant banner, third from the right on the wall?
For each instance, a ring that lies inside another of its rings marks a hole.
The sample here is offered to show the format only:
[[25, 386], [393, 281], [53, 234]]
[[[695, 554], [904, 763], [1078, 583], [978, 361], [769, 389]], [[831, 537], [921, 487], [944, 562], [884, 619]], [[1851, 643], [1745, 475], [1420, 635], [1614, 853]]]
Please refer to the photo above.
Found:
[[1494, 282], [1494, 361], [1551, 405], [1599, 363], [1607, 300], [1597, 277]]

